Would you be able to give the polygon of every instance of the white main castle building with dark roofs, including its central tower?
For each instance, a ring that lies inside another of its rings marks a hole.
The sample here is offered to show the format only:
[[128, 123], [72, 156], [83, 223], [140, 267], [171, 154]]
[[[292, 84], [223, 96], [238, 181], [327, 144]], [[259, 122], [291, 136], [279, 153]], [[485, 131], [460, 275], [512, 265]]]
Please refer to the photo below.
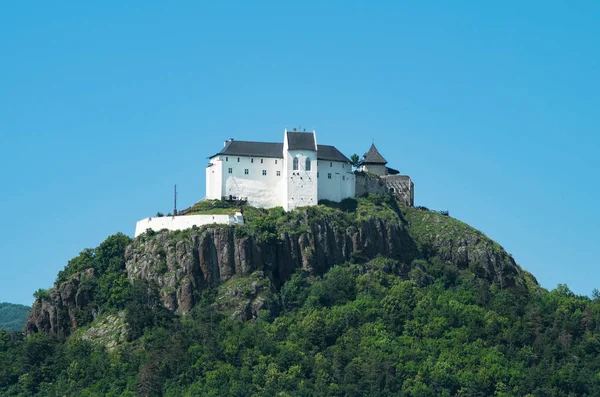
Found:
[[229, 139], [206, 167], [206, 198], [253, 207], [289, 211], [355, 192], [350, 160], [334, 146], [317, 144], [315, 131], [286, 129], [283, 143]]

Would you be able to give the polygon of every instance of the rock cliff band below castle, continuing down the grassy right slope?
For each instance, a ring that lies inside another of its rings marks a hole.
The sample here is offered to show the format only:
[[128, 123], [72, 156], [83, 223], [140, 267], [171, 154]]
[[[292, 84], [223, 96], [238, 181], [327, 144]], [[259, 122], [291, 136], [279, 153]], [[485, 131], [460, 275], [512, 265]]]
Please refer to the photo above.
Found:
[[408, 211], [407, 218], [371, 216], [350, 226], [341, 226], [334, 215], [315, 220], [305, 211], [266, 242], [241, 235], [236, 227], [189, 230], [177, 238], [163, 231], [134, 240], [125, 254], [127, 272], [130, 278], [155, 282], [165, 306], [180, 313], [194, 306], [196, 292], [234, 276], [261, 271], [277, 288], [298, 268], [321, 274], [336, 264], [377, 255], [404, 263], [437, 256], [501, 288], [523, 285], [512, 257], [482, 233], [435, 212]]

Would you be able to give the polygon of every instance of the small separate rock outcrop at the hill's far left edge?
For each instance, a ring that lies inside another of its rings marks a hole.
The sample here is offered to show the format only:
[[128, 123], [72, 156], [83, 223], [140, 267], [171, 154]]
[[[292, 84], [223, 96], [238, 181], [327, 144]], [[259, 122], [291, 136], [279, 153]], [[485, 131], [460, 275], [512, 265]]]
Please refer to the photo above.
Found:
[[42, 331], [52, 335], [69, 335], [72, 329], [77, 328], [77, 313], [91, 300], [85, 281], [93, 277], [93, 269], [87, 269], [38, 297], [25, 324], [25, 333]]

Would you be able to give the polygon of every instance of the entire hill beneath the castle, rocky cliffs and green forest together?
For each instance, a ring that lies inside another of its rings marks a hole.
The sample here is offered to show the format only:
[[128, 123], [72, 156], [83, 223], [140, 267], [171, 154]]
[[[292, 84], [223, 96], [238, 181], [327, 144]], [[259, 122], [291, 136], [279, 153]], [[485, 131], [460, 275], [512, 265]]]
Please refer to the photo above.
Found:
[[245, 217], [84, 251], [32, 314], [82, 320], [0, 331], [0, 394], [600, 395], [600, 300], [540, 288], [481, 232], [378, 197]]

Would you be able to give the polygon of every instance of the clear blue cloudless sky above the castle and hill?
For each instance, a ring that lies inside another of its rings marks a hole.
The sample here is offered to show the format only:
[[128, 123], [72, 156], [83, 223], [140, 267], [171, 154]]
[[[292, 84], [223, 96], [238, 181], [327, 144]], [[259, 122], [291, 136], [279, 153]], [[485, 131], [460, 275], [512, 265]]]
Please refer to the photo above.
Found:
[[374, 140], [417, 205], [600, 288], [598, 1], [90, 3], [0, 5], [0, 302], [286, 125]]

